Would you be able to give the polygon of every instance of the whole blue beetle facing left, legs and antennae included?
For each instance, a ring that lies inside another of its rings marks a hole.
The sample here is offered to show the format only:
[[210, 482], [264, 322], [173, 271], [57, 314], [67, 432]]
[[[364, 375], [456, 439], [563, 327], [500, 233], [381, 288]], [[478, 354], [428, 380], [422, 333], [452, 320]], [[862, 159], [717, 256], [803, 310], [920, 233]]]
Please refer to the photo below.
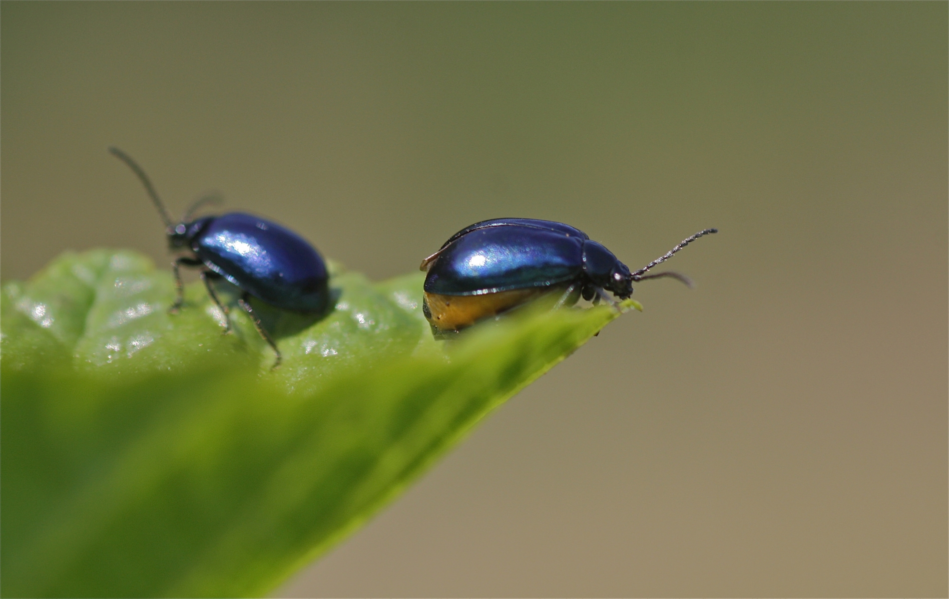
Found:
[[248, 313], [257, 332], [277, 354], [273, 368], [279, 366], [282, 359], [280, 350], [251, 308], [250, 298], [252, 296], [284, 310], [322, 313], [329, 303], [329, 288], [326, 264], [320, 254], [307, 240], [288, 228], [251, 214], [230, 212], [190, 220], [195, 209], [216, 201], [216, 196], [197, 200], [176, 225], [158, 199], [148, 175], [135, 160], [118, 148], [109, 148], [109, 152], [127, 164], [145, 186], [165, 222], [169, 247], [192, 254], [172, 263], [177, 299], [169, 311], [177, 313], [184, 303], [184, 284], [178, 268], [199, 267], [208, 295], [224, 314], [224, 332], [228, 333], [231, 331], [228, 309], [218, 299], [212, 281], [221, 278], [231, 281], [243, 291], [237, 300], [240, 307]]

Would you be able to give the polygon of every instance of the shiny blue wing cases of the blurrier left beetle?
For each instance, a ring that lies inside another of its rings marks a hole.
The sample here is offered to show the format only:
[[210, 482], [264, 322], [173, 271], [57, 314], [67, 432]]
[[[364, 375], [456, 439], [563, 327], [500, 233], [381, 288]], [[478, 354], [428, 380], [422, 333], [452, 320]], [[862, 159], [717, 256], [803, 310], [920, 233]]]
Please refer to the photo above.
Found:
[[326, 307], [326, 264], [288, 228], [232, 212], [214, 218], [192, 248], [214, 272], [272, 306], [301, 312]]

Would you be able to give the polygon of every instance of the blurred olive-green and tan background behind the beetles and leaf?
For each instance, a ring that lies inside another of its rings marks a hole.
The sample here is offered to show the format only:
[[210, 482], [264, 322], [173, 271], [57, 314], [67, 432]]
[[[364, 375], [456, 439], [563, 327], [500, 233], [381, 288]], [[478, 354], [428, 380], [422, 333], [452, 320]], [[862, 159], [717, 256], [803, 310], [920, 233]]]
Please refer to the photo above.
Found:
[[499, 216], [643, 281], [285, 596], [946, 596], [947, 5], [19, 3], [2, 274], [216, 189], [381, 279]]

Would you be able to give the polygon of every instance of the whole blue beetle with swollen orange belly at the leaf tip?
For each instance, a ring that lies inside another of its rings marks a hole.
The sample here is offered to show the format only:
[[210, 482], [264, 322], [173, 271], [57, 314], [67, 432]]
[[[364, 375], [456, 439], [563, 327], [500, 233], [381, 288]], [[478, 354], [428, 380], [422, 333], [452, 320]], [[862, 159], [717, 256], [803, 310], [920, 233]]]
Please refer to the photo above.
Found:
[[633, 294], [633, 281], [645, 279], [672, 277], [691, 286], [676, 272], [645, 273], [699, 237], [716, 232], [699, 231], [631, 272], [578, 228], [530, 218], [481, 221], [452, 235], [422, 261], [419, 269], [428, 272], [422, 312], [436, 335], [445, 335], [552, 291], [562, 294], [559, 306], [581, 296], [615, 303], [606, 292], [625, 300]]

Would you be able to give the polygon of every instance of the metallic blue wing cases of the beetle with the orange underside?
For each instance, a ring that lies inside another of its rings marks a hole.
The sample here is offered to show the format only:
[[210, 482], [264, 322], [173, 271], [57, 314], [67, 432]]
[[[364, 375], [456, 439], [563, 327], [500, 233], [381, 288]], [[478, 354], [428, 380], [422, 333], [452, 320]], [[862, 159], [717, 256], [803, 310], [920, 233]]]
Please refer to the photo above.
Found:
[[583, 272], [583, 243], [536, 227], [478, 228], [440, 252], [425, 278], [425, 291], [480, 296], [571, 281]]

